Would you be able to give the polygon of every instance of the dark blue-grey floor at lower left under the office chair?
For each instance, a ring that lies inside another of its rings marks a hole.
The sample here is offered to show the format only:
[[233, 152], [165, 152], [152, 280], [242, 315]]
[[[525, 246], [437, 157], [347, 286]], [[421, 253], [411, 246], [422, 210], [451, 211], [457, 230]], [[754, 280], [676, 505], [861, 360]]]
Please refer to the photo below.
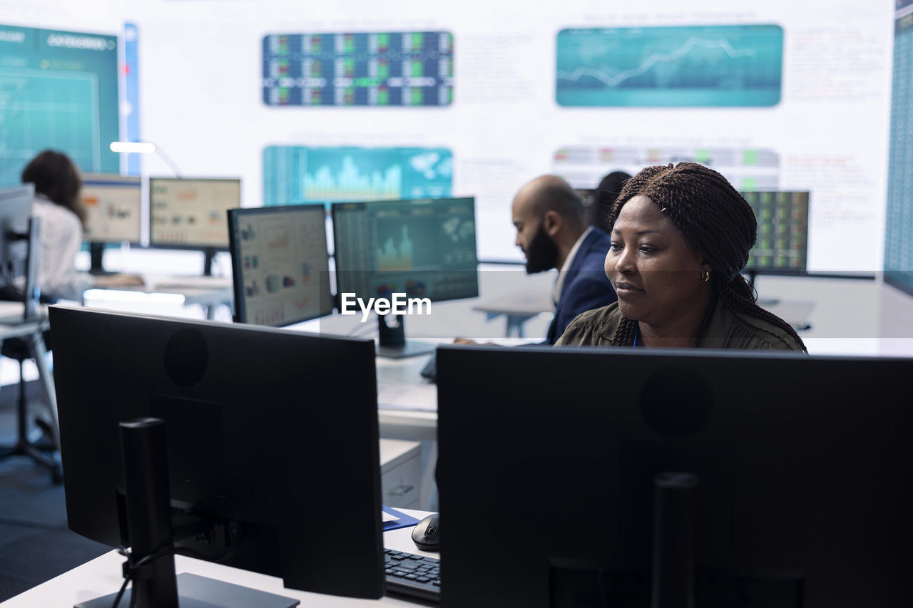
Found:
[[[28, 383], [37, 399], [40, 387]], [[18, 387], [0, 389], [0, 444], [16, 437]], [[24, 456], [0, 460], [0, 602], [110, 550], [67, 528], [63, 485]]]

